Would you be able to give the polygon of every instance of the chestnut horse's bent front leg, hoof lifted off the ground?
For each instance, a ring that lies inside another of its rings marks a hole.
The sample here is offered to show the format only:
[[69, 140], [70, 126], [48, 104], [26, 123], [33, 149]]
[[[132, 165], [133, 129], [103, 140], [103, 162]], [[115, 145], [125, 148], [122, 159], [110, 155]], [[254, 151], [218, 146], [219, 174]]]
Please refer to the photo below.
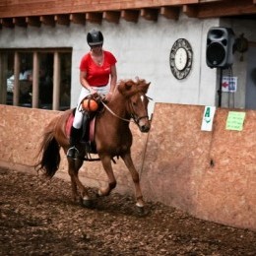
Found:
[[99, 158], [101, 160], [101, 163], [102, 163], [105, 173], [107, 175], [108, 184], [106, 187], [99, 188], [98, 195], [99, 196], [108, 196], [110, 194], [111, 190], [114, 189], [116, 186], [116, 179], [115, 179], [115, 176], [113, 173], [113, 168], [112, 168], [110, 157], [99, 155]]

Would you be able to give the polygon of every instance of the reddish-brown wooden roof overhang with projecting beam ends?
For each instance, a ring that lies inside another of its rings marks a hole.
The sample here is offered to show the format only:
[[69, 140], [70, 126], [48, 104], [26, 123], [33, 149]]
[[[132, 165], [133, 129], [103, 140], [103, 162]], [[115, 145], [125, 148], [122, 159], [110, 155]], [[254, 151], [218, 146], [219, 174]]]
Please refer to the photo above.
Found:
[[256, 0], [1, 0], [0, 28], [69, 26], [120, 19], [158, 21], [160, 16], [178, 20], [181, 14], [208, 19], [237, 17], [256, 20]]

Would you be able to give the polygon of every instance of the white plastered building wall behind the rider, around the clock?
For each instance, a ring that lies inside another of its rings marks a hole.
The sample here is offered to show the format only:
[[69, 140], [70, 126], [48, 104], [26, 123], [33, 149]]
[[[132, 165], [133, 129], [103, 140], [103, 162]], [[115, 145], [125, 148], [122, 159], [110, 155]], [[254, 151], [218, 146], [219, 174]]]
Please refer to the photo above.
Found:
[[[238, 22], [237, 22], [238, 23]], [[231, 24], [241, 30], [237, 23]], [[120, 20], [118, 25], [103, 21], [100, 26], [71, 24], [69, 27], [41, 26], [0, 30], [0, 47], [72, 47], [72, 106], [80, 93], [79, 64], [89, 50], [87, 32], [98, 28], [104, 34], [104, 48], [117, 58], [119, 79], [144, 78], [152, 83], [149, 96], [157, 102], [216, 104], [217, 70], [206, 65], [206, 36], [219, 19], [199, 20], [181, 16], [178, 21], [159, 17], [158, 22], [140, 18], [137, 24]], [[176, 80], [169, 68], [169, 52], [174, 41], [186, 38], [193, 49], [192, 70], [184, 80]], [[238, 68], [238, 70], [240, 70]], [[239, 101], [242, 105], [244, 100]], [[151, 110], [153, 105], [151, 105]]]

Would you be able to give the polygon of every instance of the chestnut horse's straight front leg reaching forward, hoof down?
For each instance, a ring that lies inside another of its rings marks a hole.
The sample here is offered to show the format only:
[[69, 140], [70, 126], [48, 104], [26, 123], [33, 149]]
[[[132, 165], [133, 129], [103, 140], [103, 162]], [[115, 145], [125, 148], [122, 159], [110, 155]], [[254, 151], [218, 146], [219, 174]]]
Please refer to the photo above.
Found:
[[135, 185], [136, 206], [138, 207], [139, 211], [143, 213], [145, 203], [143, 200], [139, 173], [134, 166], [130, 153], [124, 154], [123, 156], [121, 156], [121, 158], [122, 160], [124, 160], [125, 165], [127, 166], [132, 175], [132, 179]]

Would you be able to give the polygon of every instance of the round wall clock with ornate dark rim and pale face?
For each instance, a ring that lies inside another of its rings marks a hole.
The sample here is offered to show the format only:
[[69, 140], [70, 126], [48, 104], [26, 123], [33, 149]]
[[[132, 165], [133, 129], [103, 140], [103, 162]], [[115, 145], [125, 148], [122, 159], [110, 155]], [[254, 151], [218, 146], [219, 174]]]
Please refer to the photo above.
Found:
[[192, 57], [193, 51], [186, 39], [179, 38], [173, 43], [169, 54], [169, 66], [176, 79], [187, 77], [192, 67]]

